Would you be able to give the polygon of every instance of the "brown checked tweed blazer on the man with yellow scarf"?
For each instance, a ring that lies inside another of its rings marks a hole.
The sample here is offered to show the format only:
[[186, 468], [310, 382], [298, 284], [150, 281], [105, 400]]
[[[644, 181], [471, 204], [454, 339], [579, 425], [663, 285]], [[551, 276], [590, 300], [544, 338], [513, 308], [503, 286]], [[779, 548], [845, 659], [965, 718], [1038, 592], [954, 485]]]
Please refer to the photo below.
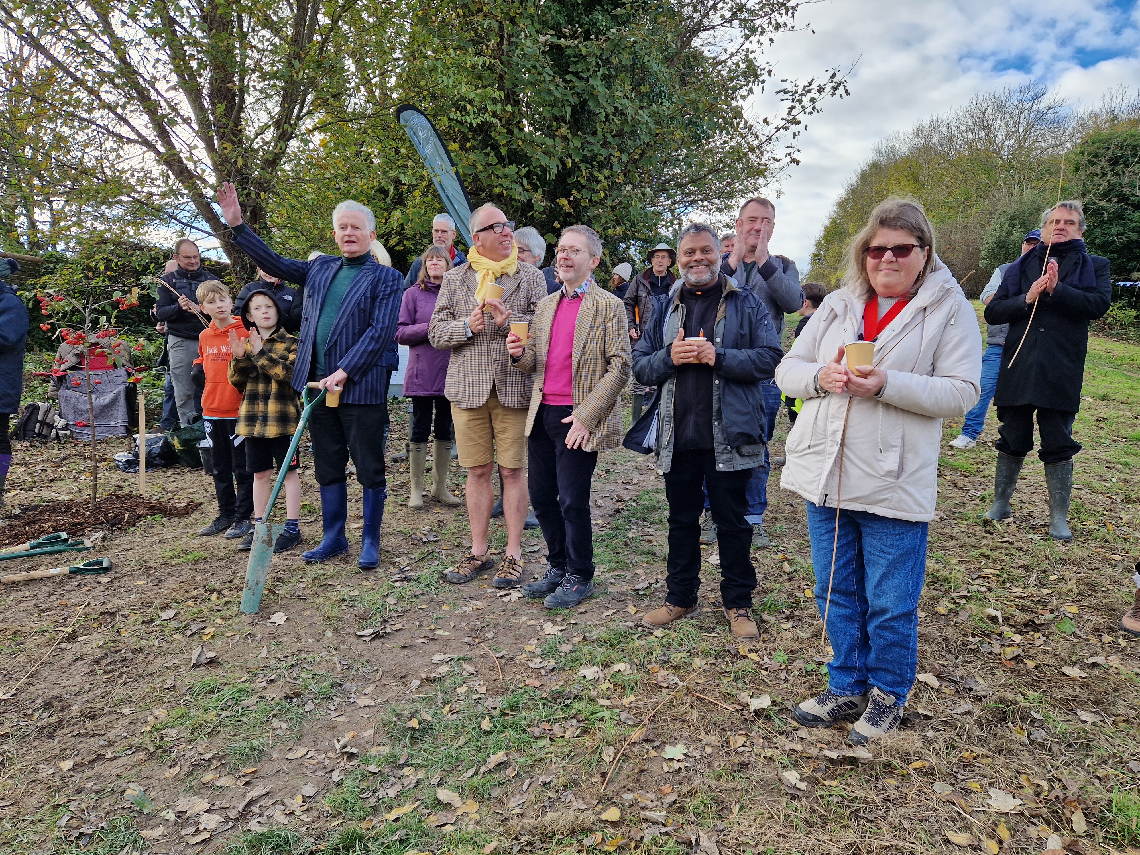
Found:
[[[459, 409], [474, 409], [487, 402], [491, 386], [504, 407], [522, 409], [530, 404], [534, 378], [511, 367], [506, 352], [510, 321], [502, 329], [495, 318], [483, 316], [483, 331], [467, 341], [463, 321], [475, 310], [479, 276], [471, 264], [461, 264], [443, 274], [443, 285], [427, 325], [427, 341], [439, 350], [450, 350], [443, 394]], [[520, 261], [513, 276], [500, 276], [503, 303], [511, 310], [510, 320], [531, 321], [535, 308], [546, 298], [546, 279], [536, 267]]]

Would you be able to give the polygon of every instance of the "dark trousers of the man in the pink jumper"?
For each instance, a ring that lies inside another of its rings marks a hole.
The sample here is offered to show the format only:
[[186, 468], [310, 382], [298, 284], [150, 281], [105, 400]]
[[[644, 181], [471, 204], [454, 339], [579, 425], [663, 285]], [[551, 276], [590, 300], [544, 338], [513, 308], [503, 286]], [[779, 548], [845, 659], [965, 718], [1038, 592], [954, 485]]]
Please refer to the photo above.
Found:
[[527, 481], [530, 505], [546, 538], [547, 561], [581, 579], [593, 579], [589, 486], [597, 451], [567, 448], [570, 424], [562, 424], [562, 420], [572, 412], [573, 407], [538, 405], [527, 438]]

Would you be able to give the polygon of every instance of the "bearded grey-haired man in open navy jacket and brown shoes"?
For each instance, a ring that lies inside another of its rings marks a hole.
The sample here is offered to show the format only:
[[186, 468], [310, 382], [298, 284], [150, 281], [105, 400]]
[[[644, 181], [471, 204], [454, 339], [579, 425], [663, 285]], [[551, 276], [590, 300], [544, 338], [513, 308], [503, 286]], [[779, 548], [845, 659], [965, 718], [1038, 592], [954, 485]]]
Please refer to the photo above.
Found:
[[719, 528], [725, 617], [736, 638], [755, 640], [747, 489], [764, 462], [760, 385], [772, 380], [783, 350], [760, 296], [720, 271], [720, 241], [710, 227], [693, 223], [681, 233], [677, 267], [682, 282], [653, 298], [634, 347], [634, 376], [659, 388], [658, 404], [625, 445], [656, 450], [669, 502], [669, 593], [643, 622], [660, 628], [697, 611], [701, 486], [707, 482]]

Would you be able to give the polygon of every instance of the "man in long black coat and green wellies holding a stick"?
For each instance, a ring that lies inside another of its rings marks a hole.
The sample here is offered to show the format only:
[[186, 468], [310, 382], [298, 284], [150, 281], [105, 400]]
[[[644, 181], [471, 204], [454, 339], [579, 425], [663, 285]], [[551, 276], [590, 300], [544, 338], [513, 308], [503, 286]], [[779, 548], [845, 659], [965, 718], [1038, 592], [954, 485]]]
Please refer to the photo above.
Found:
[[1080, 202], [1045, 211], [1041, 243], [1005, 269], [985, 312], [987, 324], [1010, 325], [994, 392], [1001, 422], [994, 502], [985, 516], [1012, 515], [1009, 499], [1021, 463], [1033, 450], [1036, 415], [1037, 457], [1045, 464], [1049, 489], [1049, 535], [1057, 540], [1073, 539], [1073, 456], [1081, 450], [1073, 439], [1073, 420], [1081, 407], [1089, 321], [1108, 311], [1113, 296], [1108, 259], [1090, 255], [1082, 235]]

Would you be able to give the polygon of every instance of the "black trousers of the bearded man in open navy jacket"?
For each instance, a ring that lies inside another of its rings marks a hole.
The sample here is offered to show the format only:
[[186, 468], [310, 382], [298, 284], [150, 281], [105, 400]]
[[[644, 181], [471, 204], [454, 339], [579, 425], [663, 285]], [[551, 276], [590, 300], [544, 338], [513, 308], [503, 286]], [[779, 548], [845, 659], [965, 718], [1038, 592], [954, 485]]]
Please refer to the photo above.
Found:
[[702, 483], [708, 483], [709, 506], [717, 527], [720, 553], [720, 598], [726, 609], [751, 608], [756, 587], [752, 565], [752, 527], [748, 511], [748, 482], [752, 470], [717, 470], [711, 449], [674, 451], [665, 473], [665, 496], [669, 500], [669, 560], [666, 564], [669, 593], [665, 602], [689, 609], [697, 605], [701, 585]]

